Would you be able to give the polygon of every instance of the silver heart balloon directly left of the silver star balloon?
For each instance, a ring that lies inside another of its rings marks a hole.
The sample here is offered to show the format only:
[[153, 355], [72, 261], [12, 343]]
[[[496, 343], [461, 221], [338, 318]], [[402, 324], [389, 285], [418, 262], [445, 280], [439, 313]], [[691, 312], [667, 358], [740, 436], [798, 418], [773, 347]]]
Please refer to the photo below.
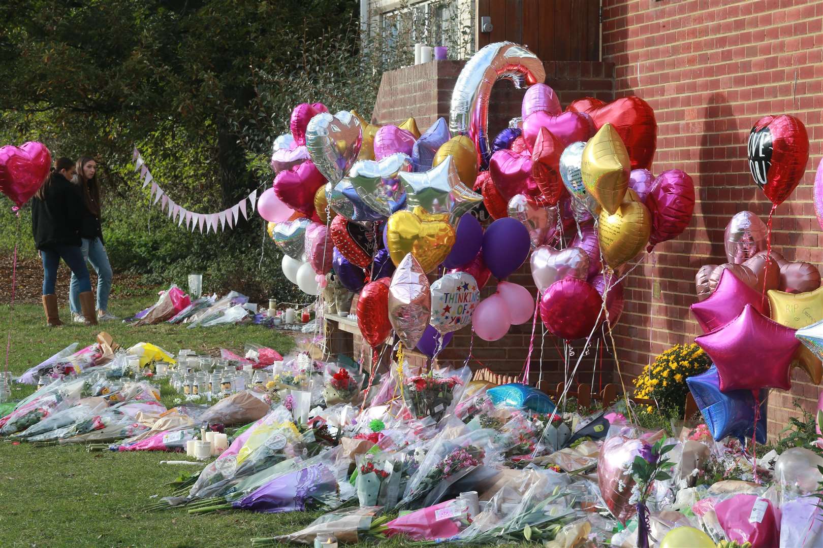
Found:
[[[379, 161], [359, 160], [349, 171], [348, 179], [357, 196], [372, 210], [388, 217], [398, 210], [405, 195], [398, 173], [412, 171], [412, 159], [398, 152]], [[392, 188], [397, 190], [392, 190]]]

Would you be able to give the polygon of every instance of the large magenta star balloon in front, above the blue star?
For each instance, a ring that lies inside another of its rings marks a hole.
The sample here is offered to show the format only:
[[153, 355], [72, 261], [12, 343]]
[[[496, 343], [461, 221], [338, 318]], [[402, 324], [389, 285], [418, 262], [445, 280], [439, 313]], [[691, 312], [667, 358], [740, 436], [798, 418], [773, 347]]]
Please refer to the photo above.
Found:
[[788, 390], [789, 366], [800, 341], [789, 329], [746, 305], [734, 320], [695, 338], [714, 361], [720, 389], [777, 388]]

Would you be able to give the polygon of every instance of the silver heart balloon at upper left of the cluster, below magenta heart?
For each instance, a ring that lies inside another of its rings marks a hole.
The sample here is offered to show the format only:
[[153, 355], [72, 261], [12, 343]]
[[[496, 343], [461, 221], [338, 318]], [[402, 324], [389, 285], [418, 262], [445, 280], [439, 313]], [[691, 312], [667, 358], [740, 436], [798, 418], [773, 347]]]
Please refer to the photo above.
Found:
[[306, 149], [328, 182], [340, 182], [355, 163], [363, 142], [360, 120], [347, 110], [332, 116], [319, 113], [306, 127]]

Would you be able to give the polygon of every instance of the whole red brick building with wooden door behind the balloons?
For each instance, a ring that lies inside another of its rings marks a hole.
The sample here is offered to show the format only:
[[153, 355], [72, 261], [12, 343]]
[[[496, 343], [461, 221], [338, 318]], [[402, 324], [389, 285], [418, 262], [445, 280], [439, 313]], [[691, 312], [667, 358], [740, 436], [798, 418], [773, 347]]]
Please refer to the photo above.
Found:
[[[477, 45], [502, 39], [538, 44], [532, 49], [546, 65], [546, 83], [564, 106], [587, 95], [647, 100], [658, 121], [653, 173], [680, 168], [694, 178], [697, 205], [690, 227], [659, 244], [626, 280], [615, 338], [627, 386], [659, 352], [700, 334], [688, 310], [695, 302], [695, 272], [725, 262], [723, 229], [732, 215], [769, 214], [770, 202], [752, 182], [746, 162], [749, 130], [766, 114], [799, 117], [811, 140], [806, 174], [774, 214], [773, 248], [788, 260], [823, 263], [823, 233], [811, 198], [823, 156], [823, 0], [477, 0], [474, 9]], [[483, 32], [482, 17], [490, 17], [494, 30]], [[568, 29], [569, 39], [548, 40], [546, 29], [554, 35]], [[386, 73], [374, 122], [414, 116], [423, 130], [436, 117], [448, 117], [461, 67], [459, 61], [432, 62]], [[495, 86], [490, 134], [518, 114], [522, 94], [508, 83]], [[533, 289], [528, 265], [515, 278]], [[537, 345], [540, 330], [538, 321]], [[497, 371], [521, 371], [531, 332], [529, 324], [514, 326], [496, 343], [475, 338], [474, 355]], [[442, 357], [462, 361], [469, 339], [468, 329], [458, 332]], [[562, 379], [559, 341], [546, 336], [543, 343], [546, 375]], [[616, 380], [608, 352], [603, 359], [597, 353], [587, 358], [579, 380], [593, 380], [595, 361], [597, 375], [605, 375], [602, 382]], [[790, 392], [770, 394], [771, 435], [796, 414], [794, 402], [815, 408], [818, 387], [797, 369], [792, 379]]]

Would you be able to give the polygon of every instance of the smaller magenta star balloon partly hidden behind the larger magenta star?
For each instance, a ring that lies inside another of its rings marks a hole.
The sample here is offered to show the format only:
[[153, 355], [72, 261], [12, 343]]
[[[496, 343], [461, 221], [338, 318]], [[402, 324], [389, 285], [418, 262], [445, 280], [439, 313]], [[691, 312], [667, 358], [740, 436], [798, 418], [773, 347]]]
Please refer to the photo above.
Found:
[[704, 333], [714, 331], [728, 324], [743, 311], [743, 306], [754, 306], [761, 314], [765, 300], [759, 292], [747, 286], [729, 269], [720, 274], [720, 281], [714, 293], [704, 301], [691, 305], [691, 313]]

